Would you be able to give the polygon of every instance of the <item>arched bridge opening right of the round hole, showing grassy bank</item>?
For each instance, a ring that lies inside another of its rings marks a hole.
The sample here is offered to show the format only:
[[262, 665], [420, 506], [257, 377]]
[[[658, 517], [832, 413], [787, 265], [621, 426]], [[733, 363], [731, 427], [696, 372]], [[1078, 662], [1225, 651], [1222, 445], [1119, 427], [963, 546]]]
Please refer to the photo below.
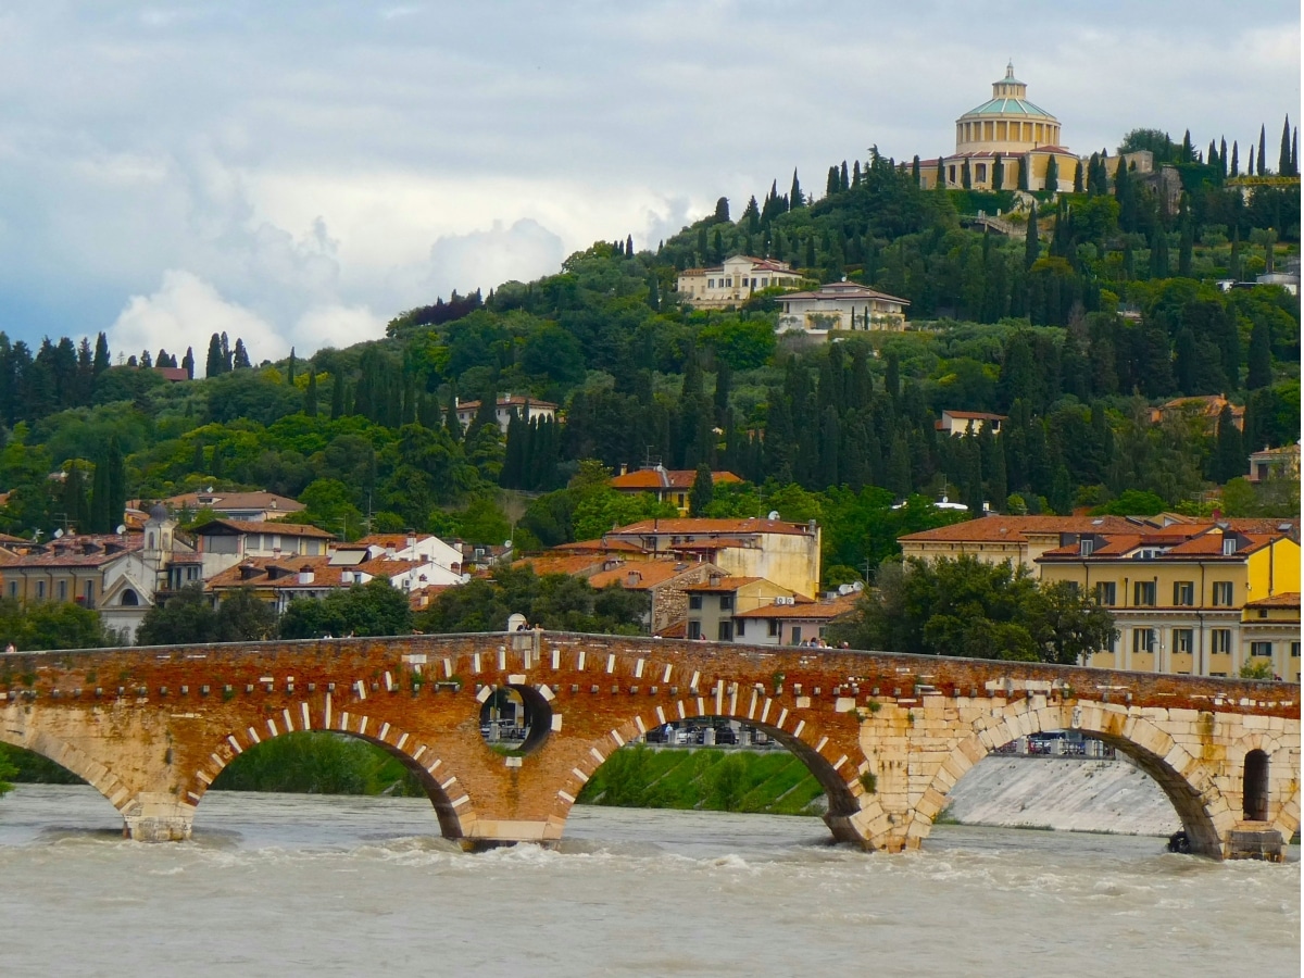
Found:
[[[700, 716], [649, 729], [589, 776], [582, 805], [824, 816], [855, 811], [803, 741], [767, 724]], [[794, 831], [799, 823], [794, 823]]]

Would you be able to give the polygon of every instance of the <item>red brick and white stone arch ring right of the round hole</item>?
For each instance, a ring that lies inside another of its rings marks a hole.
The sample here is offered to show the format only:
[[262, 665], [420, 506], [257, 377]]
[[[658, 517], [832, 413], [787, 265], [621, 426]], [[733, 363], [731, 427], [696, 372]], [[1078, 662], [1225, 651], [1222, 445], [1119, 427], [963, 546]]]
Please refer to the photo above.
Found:
[[[724, 682], [728, 683], [728, 679]], [[721, 698], [722, 699], [722, 698]], [[815, 717], [805, 716], [806, 711], [789, 712], [775, 708], [764, 719], [758, 719], [754, 711], [730, 707], [728, 702], [716, 705], [715, 698], [681, 700], [672, 713], [665, 703], [652, 703], [638, 712], [625, 716], [606, 734], [574, 743], [570, 747], [574, 767], [570, 768], [563, 784], [557, 790], [550, 819], [563, 824], [575, 805], [575, 799], [593, 773], [608, 762], [621, 747], [636, 741], [648, 730], [664, 726], [666, 721], [721, 719], [733, 720], [776, 739], [793, 754], [824, 789], [828, 798], [828, 812], [824, 822], [840, 842], [865, 845], [866, 837], [859, 828], [863, 810], [870, 807], [872, 797], [867, 793], [861, 775], [867, 769], [858, 747], [854, 732], [827, 729]], [[741, 704], [739, 704], [741, 705]], [[750, 704], [748, 704], [750, 705]], [[660, 711], [657, 709], [660, 707]]]

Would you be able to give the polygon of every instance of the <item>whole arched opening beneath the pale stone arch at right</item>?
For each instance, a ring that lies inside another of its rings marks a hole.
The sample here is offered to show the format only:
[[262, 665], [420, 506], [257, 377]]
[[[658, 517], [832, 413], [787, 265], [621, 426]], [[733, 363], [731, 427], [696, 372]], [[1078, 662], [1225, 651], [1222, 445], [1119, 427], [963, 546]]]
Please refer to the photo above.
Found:
[[1121, 737], [1058, 729], [1015, 737], [945, 793], [935, 824], [1172, 836], [1192, 852], [1218, 838], [1196, 790], [1163, 758]]

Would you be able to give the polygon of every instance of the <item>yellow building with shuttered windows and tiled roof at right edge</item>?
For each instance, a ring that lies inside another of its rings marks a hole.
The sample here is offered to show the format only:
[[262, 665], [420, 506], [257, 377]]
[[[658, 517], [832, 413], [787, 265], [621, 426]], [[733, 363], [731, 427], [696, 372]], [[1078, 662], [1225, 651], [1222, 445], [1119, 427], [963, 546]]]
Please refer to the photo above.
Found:
[[[1294, 531], [1178, 524], [1154, 532], [1069, 533], [1037, 563], [1045, 582], [1067, 582], [1114, 614], [1111, 648], [1088, 665], [1230, 677], [1266, 652], [1275, 675], [1299, 681], [1300, 546]], [[1270, 612], [1260, 619], [1254, 610], [1269, 599], [1288, 605], [1291, 595], [1294, 638], [1288, 629], [1279, 634], [1279, 617]], [[1273, 636], [1265, 638], [1267, 631]], [[1252, 647], [1254, 642], [1260, 644]], [[1265, 649], [1264, 642], [1271, 647]]]

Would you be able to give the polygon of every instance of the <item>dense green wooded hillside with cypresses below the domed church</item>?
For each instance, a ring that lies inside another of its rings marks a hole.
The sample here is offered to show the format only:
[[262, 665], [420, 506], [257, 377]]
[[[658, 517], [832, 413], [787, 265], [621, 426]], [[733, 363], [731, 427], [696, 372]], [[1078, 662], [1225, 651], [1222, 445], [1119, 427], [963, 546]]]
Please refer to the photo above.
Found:
[[[293, 496], [301, 519], [348, 536], [411, 527], [528, 549], [660, 512], [601, 485], [601, 466], [656, 459], [748, 480], [702, 512], [820, 519], [837, 583], [943, 518], [892, 509], [919, 493], [1029, 512], [1214, 498], [1294, 511], [1237, 476], [1248, 451], [1299, 438], [1299, 300], [1214, 283], [1297, 257], [1297, 180], [1260, 173], [1247, 193], [1213, 143], [1206, 158], [1151, 130], [1129, 142], [1175, 160], [1176, 206], [1094, 160], [1080, 193], [1011, 213], [1013, 190], [921, 190], [911, 166], [871, 150], [831, 167], [819, 200], [794, 175], [738, 219], [721, 200], [655, 250], [599, 243], [556, 275], [454, 293], [382, 340], [310, 359], [254, 365], [257, 351], [214, 336], [202, 368], [193, 351], [119, 363], [103, 335], [33, 351], [0, 334], [0, 529], [107, 529], [128, 498], [219, 485]], [[1020, 232], [966, 228], [978, 210]], [[678, 300], [679, 270], [739, 252], [908, 299], [911, 329], [806, 346], [776, 336], [772, 295], [728, 312]], [[207, 376], [145, 369], [177, 364]], [[455, 399], [509, 391], [561, 406], [565, 424], [514, 421], [503, 437], [482, 407], [463, 430]], [[1244, 432], [1230, 412], [1151, 422], [1153, 406], [1201, 394], [1244, 406]], [[1009, 420], [951, 438], [935, 429], [944, 408]]]

